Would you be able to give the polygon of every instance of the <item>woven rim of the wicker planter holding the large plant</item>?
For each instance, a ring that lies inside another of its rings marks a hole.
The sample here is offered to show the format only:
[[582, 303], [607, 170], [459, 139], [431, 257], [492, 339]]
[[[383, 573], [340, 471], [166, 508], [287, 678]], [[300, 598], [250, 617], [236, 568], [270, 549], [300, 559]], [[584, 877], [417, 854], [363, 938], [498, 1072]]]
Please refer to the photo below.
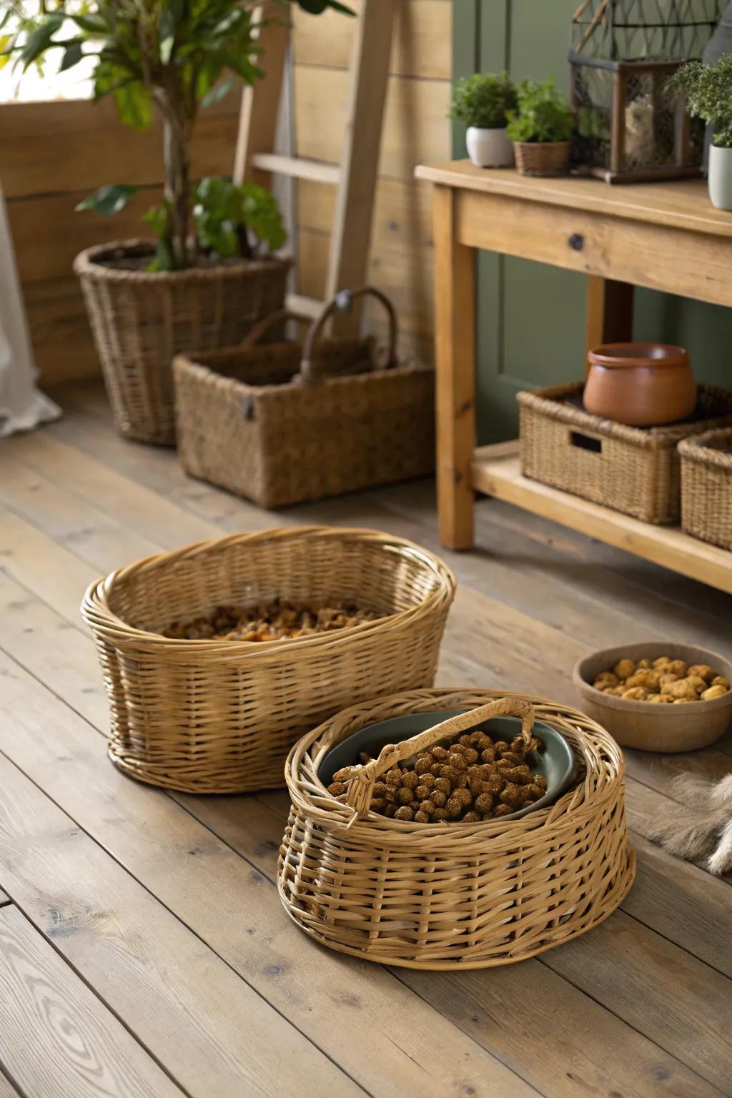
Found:
[[129, 270], [125, 267], [108, 267], [99, 260], [109, 251], [121, 249], [128, 251], [135, 248], [150, 247], [155, 242], [145, 237], [132, 237], [126, 240], [109, 240], [105, 244], [94, 244], [85, 248], [74, 260], [74, 272], [78, 277], [87, 276], [98, 282], [136, 282], [160, 285], [177, 282], [210, 282], [240, 279], [243, 274], [254, 274], [257, 271], [272, 270], [273, 267], [290, 269], [292, 260], [286, 256], [263, 256], [248, 259], [239, 257], [236, 262], [211, 264], [202, 267], [185, 267], [178, 271]]

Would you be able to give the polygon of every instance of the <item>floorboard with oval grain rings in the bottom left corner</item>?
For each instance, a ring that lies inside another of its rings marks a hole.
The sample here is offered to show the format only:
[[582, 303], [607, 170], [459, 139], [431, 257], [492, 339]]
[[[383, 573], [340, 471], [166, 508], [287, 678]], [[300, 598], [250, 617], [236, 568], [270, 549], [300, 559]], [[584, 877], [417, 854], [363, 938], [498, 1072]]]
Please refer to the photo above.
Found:
[[25, 1094], [182, 1096], [18, 908], [0, 911], [0, 1002], [2, 1063]]

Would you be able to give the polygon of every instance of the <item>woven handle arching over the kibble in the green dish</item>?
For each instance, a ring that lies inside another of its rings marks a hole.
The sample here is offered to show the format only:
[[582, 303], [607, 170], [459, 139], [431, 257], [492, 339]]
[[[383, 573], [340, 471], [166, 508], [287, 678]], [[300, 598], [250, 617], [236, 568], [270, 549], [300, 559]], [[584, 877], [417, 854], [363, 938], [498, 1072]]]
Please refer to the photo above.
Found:
[[[492, 717], [520, 717], [521, 736], [529, 746], [531, 740], [531, 729], [533, 728], [533, 708], [528, 702], [518, 697], [498, 697], [495, 702], [488, 702], [477, 709], [470, 709], [468, 713], [459, 713], [457, 717], [428, 728], [425, 732], [413, 736], [410, 740], [403, 740], [401, 743], [387, 743], [381, 749], [378, 759], [372, 759], [364, 766], [359, 766], [353, 777], [348, 783], [346, 791], [346, 804], [354, 809], [356, 816], [365, 816], [371, 806], [373, 796], [373, 785], [381, 774], [384, 774], [392, 766], [399, 762], [406, 762], [419, 751], [426, 751], [443, 739], [452, 739], [460, 732], [482, 725], [484, 720]], [[356, 817], [354, 817], [356, 818]], [[353, 821], [351, 821], [353, 822]]]

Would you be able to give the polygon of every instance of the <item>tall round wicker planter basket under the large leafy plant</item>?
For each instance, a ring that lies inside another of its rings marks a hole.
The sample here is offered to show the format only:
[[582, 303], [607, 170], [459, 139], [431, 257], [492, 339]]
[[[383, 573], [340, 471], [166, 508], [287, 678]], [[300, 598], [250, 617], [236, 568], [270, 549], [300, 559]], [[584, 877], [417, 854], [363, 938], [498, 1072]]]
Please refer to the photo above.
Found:
[[268, 257], [182, 271], [140, 270], [139, 257], [151, 254], [147, 240], [98, 245], [77, 256], [74, 270], [117, 430], [140, 442], [172, 446], [173, 356], [238, 343], [262, 316], [281, 309], [290, 261]]

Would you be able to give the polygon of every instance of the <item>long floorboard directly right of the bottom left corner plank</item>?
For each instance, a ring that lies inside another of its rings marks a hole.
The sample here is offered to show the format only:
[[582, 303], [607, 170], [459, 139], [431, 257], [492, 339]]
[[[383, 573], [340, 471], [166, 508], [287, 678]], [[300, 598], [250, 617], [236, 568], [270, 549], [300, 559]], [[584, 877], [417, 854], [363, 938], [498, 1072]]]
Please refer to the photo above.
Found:
[[0, 865], [19, 906], [185, 1094], [362, 1094], [4, 757], [0, 780]]

